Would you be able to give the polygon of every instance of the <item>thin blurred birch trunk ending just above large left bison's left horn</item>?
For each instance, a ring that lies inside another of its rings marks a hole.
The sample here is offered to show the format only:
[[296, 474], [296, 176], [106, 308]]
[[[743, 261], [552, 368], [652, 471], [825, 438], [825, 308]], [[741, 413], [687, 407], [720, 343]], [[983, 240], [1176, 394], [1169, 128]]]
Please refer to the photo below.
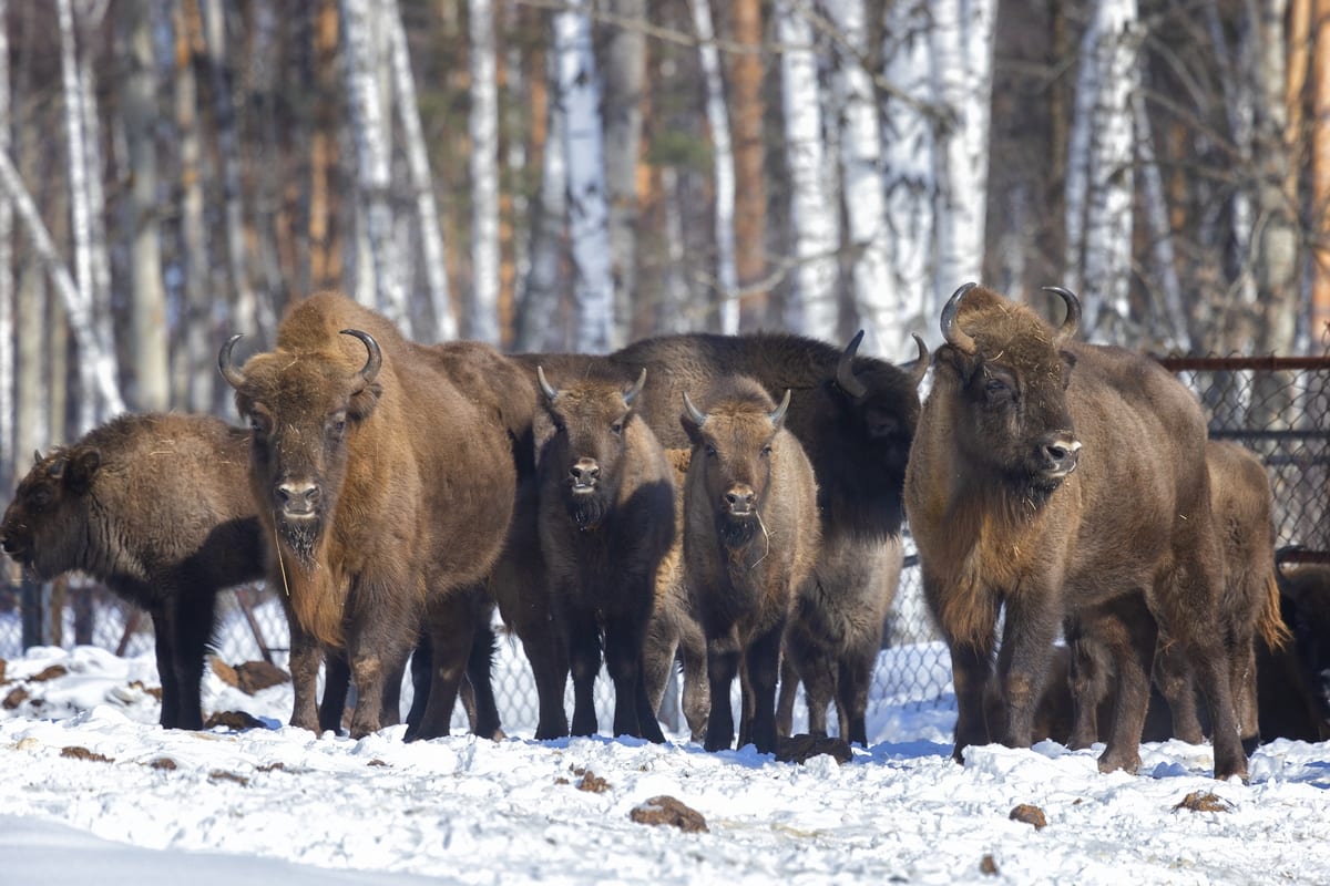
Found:
[[226, 64], [225, 0], [200, 0], [203, 4], [203, 39], [213, 88], [213, 114], [217, 126], [217, 162], [222, 178], [222, 210], [226, 231], [226, 264], [230, 270], [231, 327], [257, 331], [266, 339], [277, 327], [271, 306], [259, 303], [250, 279], [250, 259], [245, 247], [245, 194], [241, 185], [239, 143], [235, 137], [235, 102], [231, 98], [231, 73]]

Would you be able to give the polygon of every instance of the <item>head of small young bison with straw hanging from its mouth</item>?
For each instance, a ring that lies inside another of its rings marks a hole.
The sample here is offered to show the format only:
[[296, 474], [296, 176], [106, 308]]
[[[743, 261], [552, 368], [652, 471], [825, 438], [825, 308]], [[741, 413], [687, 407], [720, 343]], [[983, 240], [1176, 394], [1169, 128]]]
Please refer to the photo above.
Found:
[[785, 425], [790, 392], [781, 405], [755, 381], [732, 380], [709, 401], [706, 412], [684, 393], [684, 430], [693, 441], [692, 464], [702, 472], [708, 499], [726, 545], [746, 543], [762, 519], [771, 485], [771, 453]]

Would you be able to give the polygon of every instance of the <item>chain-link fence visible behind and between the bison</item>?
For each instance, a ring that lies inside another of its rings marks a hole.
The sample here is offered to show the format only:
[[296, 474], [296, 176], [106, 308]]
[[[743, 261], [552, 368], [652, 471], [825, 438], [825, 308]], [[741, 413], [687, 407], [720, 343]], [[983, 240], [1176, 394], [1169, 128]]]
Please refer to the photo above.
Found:
[[[1210, 434], [1236, 440], [1256, 452], [1270, 474], [1275, 501], [1277, 545], [1298, 546], [1291, 558], [1330, 558], [1330, 359], [1326, 357], [1170, 357], [1161, 361], [1201, 399], [1210, 417]], [[870, 696], [870, 720], [875, 709], [902, 703], [950, 704], [951, 663], [938, 640], [923, 602], [919, 569], [906, 535], [906, 567], [887, 620], [883, 655]], [[40, 636], [45, 643], [73, 646], [92, 643], [126, 655], [152, 651], [152, 627], [136, 619], [114, 595], [85, 579], [21, 590], [17, 583], [0, 587], [0, 658], [23, 651], [25, 607], [40, 606], [60, 612], [59, 628], [49, 622]], [[226, 592], [221, 598], [221, 627], [215, 638], [219, 658], [243, 662], [273, 658], [285, 664], [289, 640], [281, 606], [262, 586]], [[29, 622], [32, 612], [28, 611]], [[53, 630], [55, 628], [55, 630]], [[33, 630], [29, 623], [29, 632]], [[569, 689], [571, 692], [571, 689]], [[597, 683], [600, 707], [609, 711], [608, 680]], [[516, 638], [499, 643], [495, 693], [505, 724], [535, 725], [537, 703], [531, 672]], [[410, 685], [404, 689], [410, 701]], [[571, 696], [569, 696], [571, 704]], [[795, 727], [803, 721], [797, 709]], [[606, 717], [608, 721], [608, 717]], [[677, 713], [666, 716], [682, 727]], [[460, 715], [455, 720], [462, 727]]]

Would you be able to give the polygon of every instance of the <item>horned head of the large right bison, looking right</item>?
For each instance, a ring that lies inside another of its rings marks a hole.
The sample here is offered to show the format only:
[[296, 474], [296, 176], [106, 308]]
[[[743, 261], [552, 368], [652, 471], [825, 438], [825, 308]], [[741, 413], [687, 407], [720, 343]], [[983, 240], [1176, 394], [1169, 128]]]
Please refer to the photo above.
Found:
[[1043, 499], [1076, 470], [1080, 441], [1067, 405], [1076, 359], [1063, 344], [1076, 335], [1080, 302], [1067, 304], [1056, 331], [1024, 306], [976, 284], [962, 286], [942, 311], [940, 384], [954, 389], [958, 445], [967, 461]]

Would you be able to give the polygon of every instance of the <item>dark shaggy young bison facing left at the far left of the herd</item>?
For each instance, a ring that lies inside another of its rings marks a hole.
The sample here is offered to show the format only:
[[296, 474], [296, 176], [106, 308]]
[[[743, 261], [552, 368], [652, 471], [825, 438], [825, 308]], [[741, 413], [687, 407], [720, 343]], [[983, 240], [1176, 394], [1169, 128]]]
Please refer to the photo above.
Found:
[[161, 724], [203, 725], [198, 683], [219, 590], [263, 574], [249, 434], [205, 416], [121, 416], [37, 456], [4, 514], [39, 578], [82, 570], [148, 611]]

